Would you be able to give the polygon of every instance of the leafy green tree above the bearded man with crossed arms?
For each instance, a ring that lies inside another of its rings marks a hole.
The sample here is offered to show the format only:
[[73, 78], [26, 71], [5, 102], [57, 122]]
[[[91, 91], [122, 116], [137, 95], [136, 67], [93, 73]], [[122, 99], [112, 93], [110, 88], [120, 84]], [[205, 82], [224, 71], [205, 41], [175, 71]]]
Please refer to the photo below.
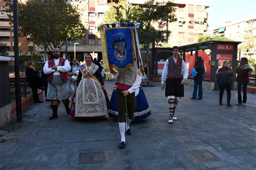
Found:
[[[11, 3], [9, 3], [11, 7]], [[11, 11], [11, 8], [10, 8]], [[80, 20], [77, 6], [66, 4], [62, 0], [30, 0], [18, 5], [19, 34], [30, 36], [37, 45], [46, 51], [62, 48], [68, 41], [82, 39], [85, 28]]]

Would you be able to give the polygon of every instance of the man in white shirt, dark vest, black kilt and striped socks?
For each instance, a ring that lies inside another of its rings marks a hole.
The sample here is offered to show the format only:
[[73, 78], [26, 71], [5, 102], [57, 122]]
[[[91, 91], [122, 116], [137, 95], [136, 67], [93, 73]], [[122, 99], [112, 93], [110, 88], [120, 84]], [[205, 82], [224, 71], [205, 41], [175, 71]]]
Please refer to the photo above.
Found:
[[166, 80], [165, 97], [168, 98], [169, 103], [169, 123], [177, 120], [175, 110], [178, 105], [178, 97], [184, 97], [184, 84], [188, 76], [187, 66], [178, 55], [179, 47], [173, 46], [172, 56], [165, 61], [161, 78], [162, 90], [164, 90], [164, 82]]

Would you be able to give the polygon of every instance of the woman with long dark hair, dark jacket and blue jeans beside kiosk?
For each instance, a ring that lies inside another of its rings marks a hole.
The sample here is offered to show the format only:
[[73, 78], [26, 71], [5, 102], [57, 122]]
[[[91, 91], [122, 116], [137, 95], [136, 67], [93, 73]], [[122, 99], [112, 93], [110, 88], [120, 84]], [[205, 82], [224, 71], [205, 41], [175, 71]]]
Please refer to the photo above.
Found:
[[196, 99], [197, 98], [197, 87], [198, 87], [198, 100], [201, 100], [203, 98], [203, 88], [202, 88], [202, 84], [203, 84], [203, 80], [204, 80], [204, 72], [205, 72], [205, 68], [204, 68], [204, 60], [201, 58], [201, 56], [198, 56], [196, 58], [196, 65], [194, 65], [194, 68], [196, 69], [196, 73], [197, 75], [194, 76], [194, 91], [192, 94], [192, 99]]

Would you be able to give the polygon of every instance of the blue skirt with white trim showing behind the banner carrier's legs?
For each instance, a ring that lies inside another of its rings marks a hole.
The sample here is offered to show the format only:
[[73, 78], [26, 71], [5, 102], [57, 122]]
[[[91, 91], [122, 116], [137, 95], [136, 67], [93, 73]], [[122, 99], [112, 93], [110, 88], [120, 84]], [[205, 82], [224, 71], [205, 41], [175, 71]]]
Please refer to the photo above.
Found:
[[[146, 95], [140, 86], [139, 89], [135, 91], [135, 111], [133, 121], [140, 121], [151, 115], [149, 103], [147, 103]], [[117, 109], [117, 97], [116, 97], [116, 87], [111, 95], [110, 107], [109, 107], [109, 117], [118, 119], [118, 109]]]

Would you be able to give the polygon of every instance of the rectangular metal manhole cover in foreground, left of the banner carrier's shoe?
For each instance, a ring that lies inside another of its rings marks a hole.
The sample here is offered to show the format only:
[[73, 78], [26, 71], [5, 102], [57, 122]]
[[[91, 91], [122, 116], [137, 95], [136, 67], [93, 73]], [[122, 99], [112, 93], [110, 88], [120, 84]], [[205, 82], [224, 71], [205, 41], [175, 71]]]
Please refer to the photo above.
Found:
[[79, 164], [99, 164], [105, 162], [104, 152], [79, 153]]

